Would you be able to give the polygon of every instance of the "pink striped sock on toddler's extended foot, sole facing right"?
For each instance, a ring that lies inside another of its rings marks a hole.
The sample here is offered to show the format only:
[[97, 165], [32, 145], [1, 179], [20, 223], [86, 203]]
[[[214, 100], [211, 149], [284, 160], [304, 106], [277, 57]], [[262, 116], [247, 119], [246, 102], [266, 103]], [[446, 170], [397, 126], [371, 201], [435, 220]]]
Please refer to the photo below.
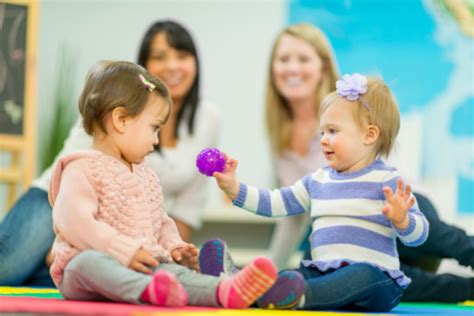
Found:
[[268, 258], [254, 259], [231, 278], [224, 279], [217, 289], [223, 307], [245, 308], [265, 293], [277, 278], [277, 269]]

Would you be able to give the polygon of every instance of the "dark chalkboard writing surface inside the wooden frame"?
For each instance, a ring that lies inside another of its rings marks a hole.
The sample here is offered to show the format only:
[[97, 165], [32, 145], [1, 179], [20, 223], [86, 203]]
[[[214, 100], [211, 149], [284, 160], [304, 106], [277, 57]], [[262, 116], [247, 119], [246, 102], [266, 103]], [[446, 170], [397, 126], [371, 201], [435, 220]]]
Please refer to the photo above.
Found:
[[0, 134], [23, 134], [27, 18], [27, 5], [0, 3]]

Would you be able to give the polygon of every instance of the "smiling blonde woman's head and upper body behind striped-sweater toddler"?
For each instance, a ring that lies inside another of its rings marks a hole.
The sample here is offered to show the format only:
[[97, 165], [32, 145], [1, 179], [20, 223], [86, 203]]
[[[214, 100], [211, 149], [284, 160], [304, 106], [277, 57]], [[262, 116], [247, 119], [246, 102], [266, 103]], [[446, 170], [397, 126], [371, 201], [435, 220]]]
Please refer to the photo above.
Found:
[[[285, 28], [273, 45], [265, 119], [278, 185], [288, 186], [324, 166], [319, 145], [321, 100], [336, 88], [336, 61], [324, 33], [311, 24]], [[308, 230], [309, 214], [278, 220], [270, 253], [285, 268]]]

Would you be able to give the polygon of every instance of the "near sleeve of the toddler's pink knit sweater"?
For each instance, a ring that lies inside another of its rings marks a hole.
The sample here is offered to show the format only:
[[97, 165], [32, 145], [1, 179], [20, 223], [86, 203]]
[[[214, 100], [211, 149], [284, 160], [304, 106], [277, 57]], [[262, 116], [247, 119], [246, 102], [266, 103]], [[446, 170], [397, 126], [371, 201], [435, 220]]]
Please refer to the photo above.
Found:
[[141, 243], [97, 221], [98, 196], [88, 176], [84, 160], [67, 165], [53, 207], [57, 234], [79, 250], [96, 249], [128, 266]]

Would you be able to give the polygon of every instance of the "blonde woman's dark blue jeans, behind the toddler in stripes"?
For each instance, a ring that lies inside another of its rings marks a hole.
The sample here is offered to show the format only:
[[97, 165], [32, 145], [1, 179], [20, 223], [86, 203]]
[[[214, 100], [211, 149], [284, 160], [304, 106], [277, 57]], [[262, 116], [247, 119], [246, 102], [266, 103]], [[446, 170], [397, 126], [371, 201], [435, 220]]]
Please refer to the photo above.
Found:
[[[397, 239], [401, 270], [412, 280], [402, 301], [457, 303], [474, 298], [474, 279], [452, 274], [436, 274], [443, 258], [456, 259], [474, 268], [474, 236], [443, 222], [431, 201], [414, 193], [420, 211], [430, 224], [428, 239], [418, 247], [404, 246]], [[311, 231], [308, 232], [308, 235]], [[308, 238], [303, 240], [305, 259], [311, 259]]]

